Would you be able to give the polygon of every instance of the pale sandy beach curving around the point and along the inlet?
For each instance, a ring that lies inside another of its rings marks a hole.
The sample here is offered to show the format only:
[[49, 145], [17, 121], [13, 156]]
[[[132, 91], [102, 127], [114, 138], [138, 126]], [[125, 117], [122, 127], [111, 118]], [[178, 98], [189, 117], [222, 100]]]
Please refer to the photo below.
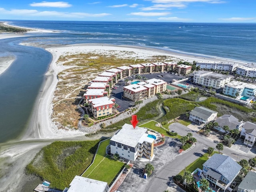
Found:
[[[34, 33], [49, 32], [48, 30], [31, 31]], [[31, 33], [30, 32], [30, 33]], [[53, 32], [53, 31], [50, 31]], [[14, 38], [23, 36], [24, 34], [0, 34], [0, 38]], [[84, 132], [78, 130], [63, 130], [58, 129], [51, 119], [52, 114], [52, 99], [54, 90], [58, 83], [57, 74], [70, 66], [64, 66], [57, 63], [60, 56], [67, 56], [71, 54], [89, 53], [107, 54], [108, 52], [115, 52], [120, 57], [129, 58], [150, 58], [154, 55], [172, 56], [174, 60], [184, 60], [188, 62], [195, 61], [223, 61], [223, 62], [239, 62], [236, 60], [229, 60], [226, 58], [207, 57], [200, 55], [184, 54], [178, 52], [170, 52], [166, 50], [158, 50], [153, 48], [138, 47], [138, 46], [116, 46], [107, 44], [75, 44], [66, 46], [55, 46], [46, 48], [52, 54], [52, 62], [46, 73], [46, 79], [42, 86], [42, 92], [39, 92], [36, 99], [32, 116], [28, 129], [24, 131], [22, 136], [17, 140], [0, 144], [0, 185], [3, 191], [15, 191], [19, 186], [29, 182], [29, 177], [25, 175], [25, 166], [34, 158], [36, 153], [47, 144], [54, 140], [93, 140], [100, 138], [103, 135], [97, 135], [92, 138], [84, 136]], [[133, 52], [132, 55], [125, 55], [125, 52]], [[10, 66], [13, 60], [6, 61], [5, 67]], [[157, 61], [156, 61], [157, 62]], [[120, 64], [122, 65], [122, 64]], [[105, 136], [111, 136], [111, 133]], [[4, 167], [4, 169], [1, 169]], [[23, 179], [23, 181], [22, 181]], [[23, 184], [22, 184], [23, 182]], [[19, 190], [18, 190], [19, 191]]]

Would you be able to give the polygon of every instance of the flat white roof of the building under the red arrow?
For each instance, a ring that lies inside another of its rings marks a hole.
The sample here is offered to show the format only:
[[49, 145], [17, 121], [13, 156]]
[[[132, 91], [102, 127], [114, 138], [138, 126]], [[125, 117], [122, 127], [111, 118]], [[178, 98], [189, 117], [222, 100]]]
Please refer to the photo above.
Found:
[[133, 128], [130, 124], [124, 124], [122, 129], [116, 133], [110, 140], [114, 142], [118, 142], [130, 147], [137, 146], [140, 138], [147, 133], [148, 130], [141, 127]]

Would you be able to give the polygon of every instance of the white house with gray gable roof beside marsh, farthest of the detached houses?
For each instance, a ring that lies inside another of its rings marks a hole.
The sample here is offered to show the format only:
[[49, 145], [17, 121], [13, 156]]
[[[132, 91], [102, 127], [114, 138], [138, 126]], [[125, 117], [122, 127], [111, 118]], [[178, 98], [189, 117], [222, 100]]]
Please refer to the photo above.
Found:
[[198, 124], [207, 124], [217, 118], [218, 112], [205, 107], [195, 107], [189, 114], [189, 120]]

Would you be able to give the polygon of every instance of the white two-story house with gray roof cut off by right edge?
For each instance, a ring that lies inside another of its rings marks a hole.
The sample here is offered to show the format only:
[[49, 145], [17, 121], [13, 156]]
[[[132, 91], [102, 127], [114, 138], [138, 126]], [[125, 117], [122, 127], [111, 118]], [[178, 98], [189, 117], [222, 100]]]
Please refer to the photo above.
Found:
[[244, 144], [252, 147], [256, 143], [256, 124], [249, 121], [245, 122], [242, 126], [241, 136], [244, 137]]

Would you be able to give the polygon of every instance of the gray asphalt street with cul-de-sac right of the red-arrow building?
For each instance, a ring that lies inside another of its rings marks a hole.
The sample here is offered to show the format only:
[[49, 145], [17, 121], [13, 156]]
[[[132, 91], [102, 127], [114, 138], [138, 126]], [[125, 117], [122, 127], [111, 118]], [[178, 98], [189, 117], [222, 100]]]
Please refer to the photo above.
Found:
[[[196, 145], [188, 152], [182, 152], [181, 155], [177, 156], [174, 160], [168, 162], [164, 167], [158, 170], [158, 172], [154, 173], [153, 178], [145, 188], [144, 192], [163, 192], [164, 190], [166, 190], [168, 184], [172, 180], [172, 176], [178, 174], [181, 170], [185, 168], [185, 166], [188, 166], [198, 157], [206, 153], [208, 147], [216, 147], [216, 142], [213, 142], [206, 137], [197, 134], [193, 130], [181, 124], [172, 124], [172, 130], [176, 131], [179, 135], [186, 135], [188, 132], [191, 132], [193, 134], [193, 137], [197, 139]], [[240, 161], [244, 158], [250, 158], [244, 156], [244, 154], [240, 153], [238, 150], [233, 151], [225, 146], [224, 150], [222, 150], [222, 153], [230, 156], [236, 161]]]

